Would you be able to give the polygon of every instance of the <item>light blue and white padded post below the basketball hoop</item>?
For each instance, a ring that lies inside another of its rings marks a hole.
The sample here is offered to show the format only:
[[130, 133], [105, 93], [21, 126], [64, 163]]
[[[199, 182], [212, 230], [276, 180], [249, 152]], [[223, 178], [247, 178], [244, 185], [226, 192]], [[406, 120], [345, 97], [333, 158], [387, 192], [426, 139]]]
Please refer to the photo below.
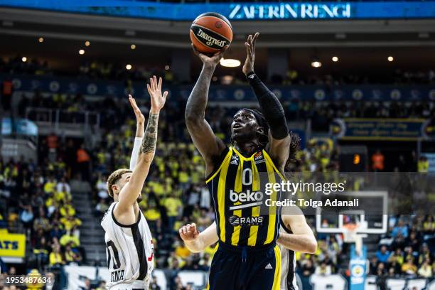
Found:
[[358, 255], [355, 245], [350, 247], [350, 290], [364, 290], [367, 272], [367, 248], [363, 246]]

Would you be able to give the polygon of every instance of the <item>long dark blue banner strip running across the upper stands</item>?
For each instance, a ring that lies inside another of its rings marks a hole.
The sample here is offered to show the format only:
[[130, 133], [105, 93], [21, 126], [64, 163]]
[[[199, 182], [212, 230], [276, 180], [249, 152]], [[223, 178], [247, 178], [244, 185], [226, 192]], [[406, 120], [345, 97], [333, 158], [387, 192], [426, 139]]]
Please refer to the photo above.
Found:
[[[0, 75], [0, 80], [6, 75]], [[80, 94], [90, 96], [148, 97], [144, 82], [133, 82], [127, 89], [125, 82], [87, 80], [67, 77], [38, 77], [33, 75], [8, 75], [12, 77], [14, 90], [33, 92]], [[168, 85], [172, 98], [187, 100], [192, 85]], [[435, 101], [434, 85], [272, 85], [270, 89], [282, 101]], [[211, 85], [210, 102], [257, 102], [247, 85]]]

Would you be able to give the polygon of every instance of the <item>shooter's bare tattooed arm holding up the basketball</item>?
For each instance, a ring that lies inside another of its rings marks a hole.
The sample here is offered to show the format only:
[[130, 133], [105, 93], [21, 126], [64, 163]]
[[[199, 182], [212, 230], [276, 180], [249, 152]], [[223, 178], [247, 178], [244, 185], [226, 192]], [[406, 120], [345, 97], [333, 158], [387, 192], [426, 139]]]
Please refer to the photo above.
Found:
[[208, 175], [213, 171], [213, 159], [220, 156], [222, 150], [225, 149], [223, 141], [215, 136], [210, 124], [205, 120], [205, 108], [207, 107], [208, 90], [213, 73], [227, 47], [212, 57], [198, 53], [193, 45], [192, 48], [200, 60], [203, 61], [203, 69], [186, 104], [186, 126], [192, 137], [193, 144], [203, 156], [206, 174]]

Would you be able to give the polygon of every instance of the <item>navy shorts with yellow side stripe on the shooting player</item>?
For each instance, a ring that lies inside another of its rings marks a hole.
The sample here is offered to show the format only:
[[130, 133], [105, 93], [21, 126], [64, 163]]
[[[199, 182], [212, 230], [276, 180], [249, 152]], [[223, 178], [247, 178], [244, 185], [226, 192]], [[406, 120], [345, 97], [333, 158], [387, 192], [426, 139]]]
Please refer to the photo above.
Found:
[[281, 252], [273, 243], [232, 247], [219, 243], [210, 268], [210, 290], [279, 290]]

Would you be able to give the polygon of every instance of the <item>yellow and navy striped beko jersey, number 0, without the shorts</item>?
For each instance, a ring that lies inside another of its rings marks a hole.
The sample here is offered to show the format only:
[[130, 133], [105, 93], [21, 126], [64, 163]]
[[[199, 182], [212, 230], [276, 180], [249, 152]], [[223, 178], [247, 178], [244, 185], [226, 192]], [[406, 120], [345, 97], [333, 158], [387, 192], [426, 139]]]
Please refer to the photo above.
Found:
[[[269, 215], [254, 217], [260, 216], [264, 200], [280, 198], [279, 192], [264, 194], [266, 183], [280, 183], [284, 177], [265, 150], [250, 157], [242, 156], [233, 147], [226, 151], [220, 167], [206, 181], [215, 207], [219, 240], [232, 246], [270, 244], [278, 238], [279, 208], [271, 207]], [[255, 193], [258, 191], [262, 194]]]

